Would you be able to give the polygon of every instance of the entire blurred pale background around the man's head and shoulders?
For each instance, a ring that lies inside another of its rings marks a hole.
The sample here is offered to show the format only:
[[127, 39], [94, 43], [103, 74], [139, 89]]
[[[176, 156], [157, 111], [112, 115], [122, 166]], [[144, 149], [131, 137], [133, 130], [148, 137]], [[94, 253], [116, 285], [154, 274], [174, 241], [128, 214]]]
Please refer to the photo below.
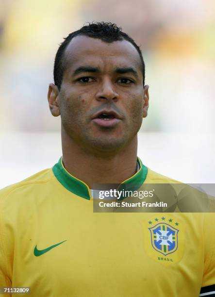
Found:
[[149, 115], [138, 155], [183, 182], [215, 183], [214, 0], [0, 0], [0, 188], [54, 165], [47, 91], [68, 33], [111, 21], [141, 46]]

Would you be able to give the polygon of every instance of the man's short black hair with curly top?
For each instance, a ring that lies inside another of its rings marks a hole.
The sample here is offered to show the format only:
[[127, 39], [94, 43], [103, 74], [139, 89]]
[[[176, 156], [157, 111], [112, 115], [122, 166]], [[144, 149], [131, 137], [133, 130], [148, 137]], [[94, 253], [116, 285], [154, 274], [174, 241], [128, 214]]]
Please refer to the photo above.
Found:
[[112, 24], [110, 22], [92, 22], [83, 26], [80, 30], [70, 33], [66, 38], [64, 38], [64, 42], [60, 44], [57, 50], [54, 60], [54, 84], [57, 85], [59, 90], [61, 88], [64, 71], [66, 69], [64, 64], [65, 49], [69, 42], [72, 40], [72, 38], [78, 35], [85, 35], [92, 38], [98, 38], [107, 43], [120, 41], [123, 39], [129, 41], [140, 55], [143, 71], [143, 85], [145, 84], [145, 63], [140, 47], [135, 43], [135, 41], [128, 34], [122, 32], [122, 28], [117, 27], [116, 24]]

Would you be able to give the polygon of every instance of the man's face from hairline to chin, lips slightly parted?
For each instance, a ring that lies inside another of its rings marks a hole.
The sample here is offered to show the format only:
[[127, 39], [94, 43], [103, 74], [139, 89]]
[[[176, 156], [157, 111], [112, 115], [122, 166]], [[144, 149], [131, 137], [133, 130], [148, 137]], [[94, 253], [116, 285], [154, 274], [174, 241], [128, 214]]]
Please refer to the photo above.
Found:
[[106, 43], [77, 36], [64, 59], [58, 101], [66, 134], [83, 147], [126, 147], [148, 108], [148, 86], [144, 90], [137, 50], [126, 40]]

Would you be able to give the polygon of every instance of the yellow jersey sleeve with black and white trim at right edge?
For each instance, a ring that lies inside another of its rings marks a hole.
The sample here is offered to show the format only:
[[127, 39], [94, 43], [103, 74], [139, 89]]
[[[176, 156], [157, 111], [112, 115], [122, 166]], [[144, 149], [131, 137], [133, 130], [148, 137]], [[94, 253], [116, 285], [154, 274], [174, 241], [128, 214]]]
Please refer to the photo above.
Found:
[[199, 296], [215, 296], [215, 213], [206, 213], [204, 224], [204, 274]]

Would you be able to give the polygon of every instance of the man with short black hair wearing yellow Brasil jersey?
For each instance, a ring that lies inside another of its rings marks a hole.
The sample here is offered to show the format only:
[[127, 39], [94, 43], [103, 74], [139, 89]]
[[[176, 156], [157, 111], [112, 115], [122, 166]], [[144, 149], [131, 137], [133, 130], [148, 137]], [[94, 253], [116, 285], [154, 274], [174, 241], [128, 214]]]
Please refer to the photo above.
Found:
[[63, 157], [1, 190], [0, 287], [31, 287], [35, 297], [215, 291], [212, 214], [93, 212], [94, 184], [174, 182], [137, 158], [148, 90], [141, 51], [116, 25], [67, 36], [48, 92]]

